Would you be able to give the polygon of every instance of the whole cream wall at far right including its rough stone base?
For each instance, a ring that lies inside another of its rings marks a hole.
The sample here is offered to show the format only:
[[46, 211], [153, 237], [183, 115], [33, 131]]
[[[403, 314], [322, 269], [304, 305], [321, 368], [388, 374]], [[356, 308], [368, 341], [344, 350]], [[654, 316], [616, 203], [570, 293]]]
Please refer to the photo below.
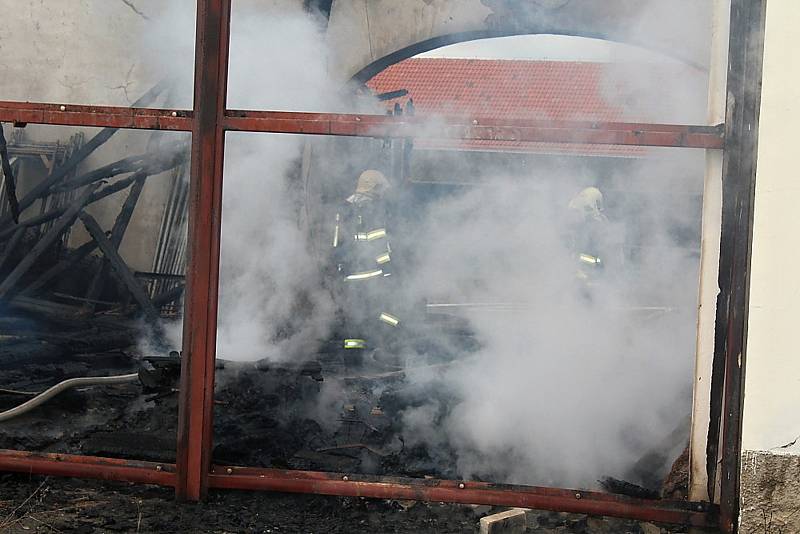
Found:
[[[796, 132], [800, 5], [767, 4], [742, 448], [741, 532], [800, 531]], [[770, 526], [770, 520], [772, 521]], [[766, 523], [765, 523], [766, 521]], [[781, 530], [782, 529], [782, 530]]]

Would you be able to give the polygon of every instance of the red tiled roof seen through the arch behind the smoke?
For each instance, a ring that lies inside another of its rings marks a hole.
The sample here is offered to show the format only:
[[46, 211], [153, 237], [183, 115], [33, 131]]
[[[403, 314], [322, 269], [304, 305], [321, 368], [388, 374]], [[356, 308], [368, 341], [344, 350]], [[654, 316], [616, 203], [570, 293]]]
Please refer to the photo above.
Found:
[[[395, 63], [367, 85], [375, 93], [406, 89], [417, 115], [491, 119], [621, 121], [623, 110], [604, 98], [606, 65], [577, 61], [411, 58]], [[631, 146], [518, 141], [417, 141], [427, 149], [536, 152], [632, 157]]]

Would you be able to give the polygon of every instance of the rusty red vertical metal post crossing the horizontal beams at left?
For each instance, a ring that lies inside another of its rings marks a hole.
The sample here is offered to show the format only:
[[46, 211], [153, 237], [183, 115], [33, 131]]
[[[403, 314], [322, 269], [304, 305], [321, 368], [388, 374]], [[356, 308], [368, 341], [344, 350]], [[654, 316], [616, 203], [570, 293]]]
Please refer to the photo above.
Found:
[[222, 119], [228, 80], [230, 0], [198, 0], [189, 252], [178, 403], [177, 484], [180, 499], [208, 488], [214, 405], [222, 165]]

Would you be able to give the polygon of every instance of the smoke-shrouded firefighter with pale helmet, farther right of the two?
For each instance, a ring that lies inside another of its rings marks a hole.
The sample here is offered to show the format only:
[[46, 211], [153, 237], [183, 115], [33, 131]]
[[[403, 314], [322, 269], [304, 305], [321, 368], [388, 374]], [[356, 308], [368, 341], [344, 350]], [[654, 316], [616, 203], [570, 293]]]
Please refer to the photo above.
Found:
[[608, 217], [605, 214], [603, 193], [587, 187], [569, 201], [571, 220], [571, 250], [578, 262], [578, 277], [588, 280], [597, 275], [608, 258], [603, 251]]

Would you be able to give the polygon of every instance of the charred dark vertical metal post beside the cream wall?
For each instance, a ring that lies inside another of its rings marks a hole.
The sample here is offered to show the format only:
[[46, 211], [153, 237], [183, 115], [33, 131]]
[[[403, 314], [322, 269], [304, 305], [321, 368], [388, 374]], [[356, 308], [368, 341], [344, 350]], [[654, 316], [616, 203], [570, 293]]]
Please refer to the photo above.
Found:
[[[721, 458], [720, 527], [729, 533], [735, 532], [739, 515], [747, 307], [765, 19], [766, 0], [732, 0], [722, 180], [720, 296], [708, 442], [709, 458]], [[724, 395], [719, 395], [720, 392]], [[714, 399], [717, 399], [716, 403]], [[717, 451], [720, 426], [721, 451]], [[710, 466], [710, 471], [711, 484], [715, 469]]]

